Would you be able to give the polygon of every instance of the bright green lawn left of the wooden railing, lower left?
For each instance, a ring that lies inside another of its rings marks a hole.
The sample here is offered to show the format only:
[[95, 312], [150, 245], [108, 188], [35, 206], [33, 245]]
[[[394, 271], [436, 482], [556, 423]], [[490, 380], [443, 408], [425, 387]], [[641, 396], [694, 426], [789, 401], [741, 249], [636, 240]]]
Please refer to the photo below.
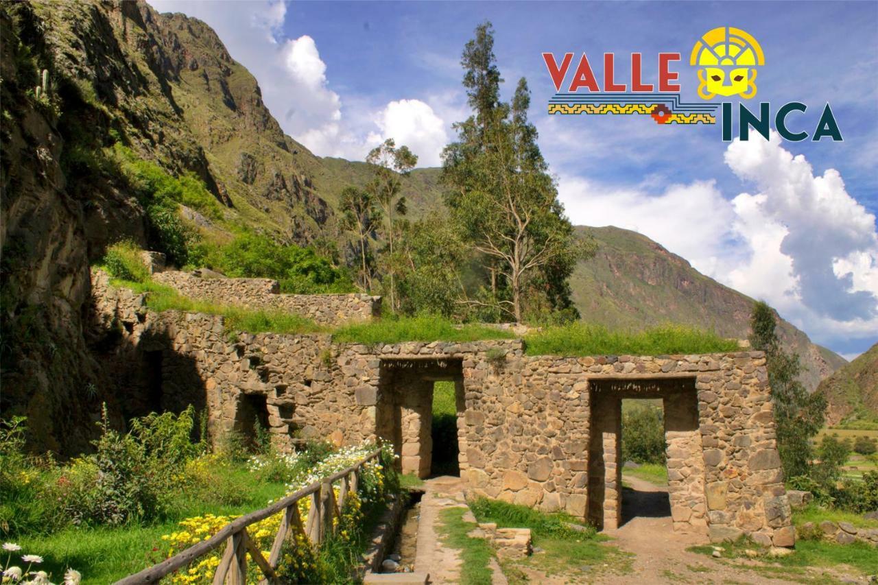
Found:
[[[50, 572], [54, 581], [61, 581], [68, 567], [83, 574], [83, 583], [101, 584], [118, 581], [162, 561], [162, 534], [178, 530], [177, 523], [189, 516], [206, 513], [241, 515], [264, 508], [266, 502], [284, 495], [284, 483], [257, 482], [252, 473], [236, 467], [223, 468], [214, 478], [216, 483], [231, 484], [232, 500], [221, 491], [202, 494], [199, 499], [190, 490], [177, 493], [170, 506], [173, 513], [162, 522], [145, 526], [70, 527], [49, 535], [10, 538], [21, 545], [24, 553], [39, 554], [45, 561], [41, 570]], [[210, 494], [213, 497], [210, 497]], [[224, 502], [225, 501], [225, 502]], [[4, 560], [4, 557], [0, 557]]]

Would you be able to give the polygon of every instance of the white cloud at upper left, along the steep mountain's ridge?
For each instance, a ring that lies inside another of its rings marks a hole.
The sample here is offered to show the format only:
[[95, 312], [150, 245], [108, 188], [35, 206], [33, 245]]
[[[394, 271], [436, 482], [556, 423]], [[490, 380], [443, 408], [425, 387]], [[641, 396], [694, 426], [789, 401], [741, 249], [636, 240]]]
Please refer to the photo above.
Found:
[[[444, 112], [419, 99], [374, 104], [369, 97], [332, 89], [327, 64], [312, 37], [284, 38], [283, 1], [223, 3], [149, 0], [155, 10], [200, 18], [226, 44], [232, 57], [255, 76], [263, 101], [284, 132], [322, 156], [362, 160], [384, 138], [419, 155], [419, 166], [435, 165], [447, 141]], [[430, 101], [433, 101], [431, 97]]]

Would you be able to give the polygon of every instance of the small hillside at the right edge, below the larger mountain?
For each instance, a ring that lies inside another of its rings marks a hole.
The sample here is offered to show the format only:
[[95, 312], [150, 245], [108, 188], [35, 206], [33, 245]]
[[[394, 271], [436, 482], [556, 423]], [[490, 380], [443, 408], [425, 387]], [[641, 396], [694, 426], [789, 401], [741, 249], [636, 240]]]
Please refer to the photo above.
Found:
[[820, 382], [826, 396], [826, 422], [850, 419], [878, 421], [878, 343]]

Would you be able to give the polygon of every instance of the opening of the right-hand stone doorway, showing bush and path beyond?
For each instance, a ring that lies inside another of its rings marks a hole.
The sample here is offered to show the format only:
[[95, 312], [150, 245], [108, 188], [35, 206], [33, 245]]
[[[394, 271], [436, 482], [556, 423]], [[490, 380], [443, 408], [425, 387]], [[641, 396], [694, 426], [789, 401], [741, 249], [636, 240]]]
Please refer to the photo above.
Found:
[[671, 516], [665, 412], [659, 399], [622, 399], [622, 520]]

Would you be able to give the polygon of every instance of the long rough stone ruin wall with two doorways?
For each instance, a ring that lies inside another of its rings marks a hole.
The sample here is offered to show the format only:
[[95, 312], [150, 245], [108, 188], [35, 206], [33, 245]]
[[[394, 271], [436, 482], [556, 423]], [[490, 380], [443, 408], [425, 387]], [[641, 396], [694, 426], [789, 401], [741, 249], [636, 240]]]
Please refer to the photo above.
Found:
[[[193, 278], [156, 279], [192, 296], [283, 296], [262, 280]], [[128, 415], [194, 404], [207, 412], [212, 437], [252, 435], [258, 421], [282, 449], [297, 437], [382, 438], [403, 472], [426, 477], [433, 387], [447, 380], [456, 388], [458, 464], [472, 494], [612, 529], [622, 514], [622, 400], [660, 399], [673, 530], [794, 544], [762, 352], [559, 358], [527, 356], [522, 341], [508, 339], [363, 345], [327, 334], [229, 336], [222, 316], [156, 314], [104, 273], [92, 280], [97, 321], [119, 331], [107, 359]], [[307, 300], [321, 302], [338, 307], [324, 295]]]

